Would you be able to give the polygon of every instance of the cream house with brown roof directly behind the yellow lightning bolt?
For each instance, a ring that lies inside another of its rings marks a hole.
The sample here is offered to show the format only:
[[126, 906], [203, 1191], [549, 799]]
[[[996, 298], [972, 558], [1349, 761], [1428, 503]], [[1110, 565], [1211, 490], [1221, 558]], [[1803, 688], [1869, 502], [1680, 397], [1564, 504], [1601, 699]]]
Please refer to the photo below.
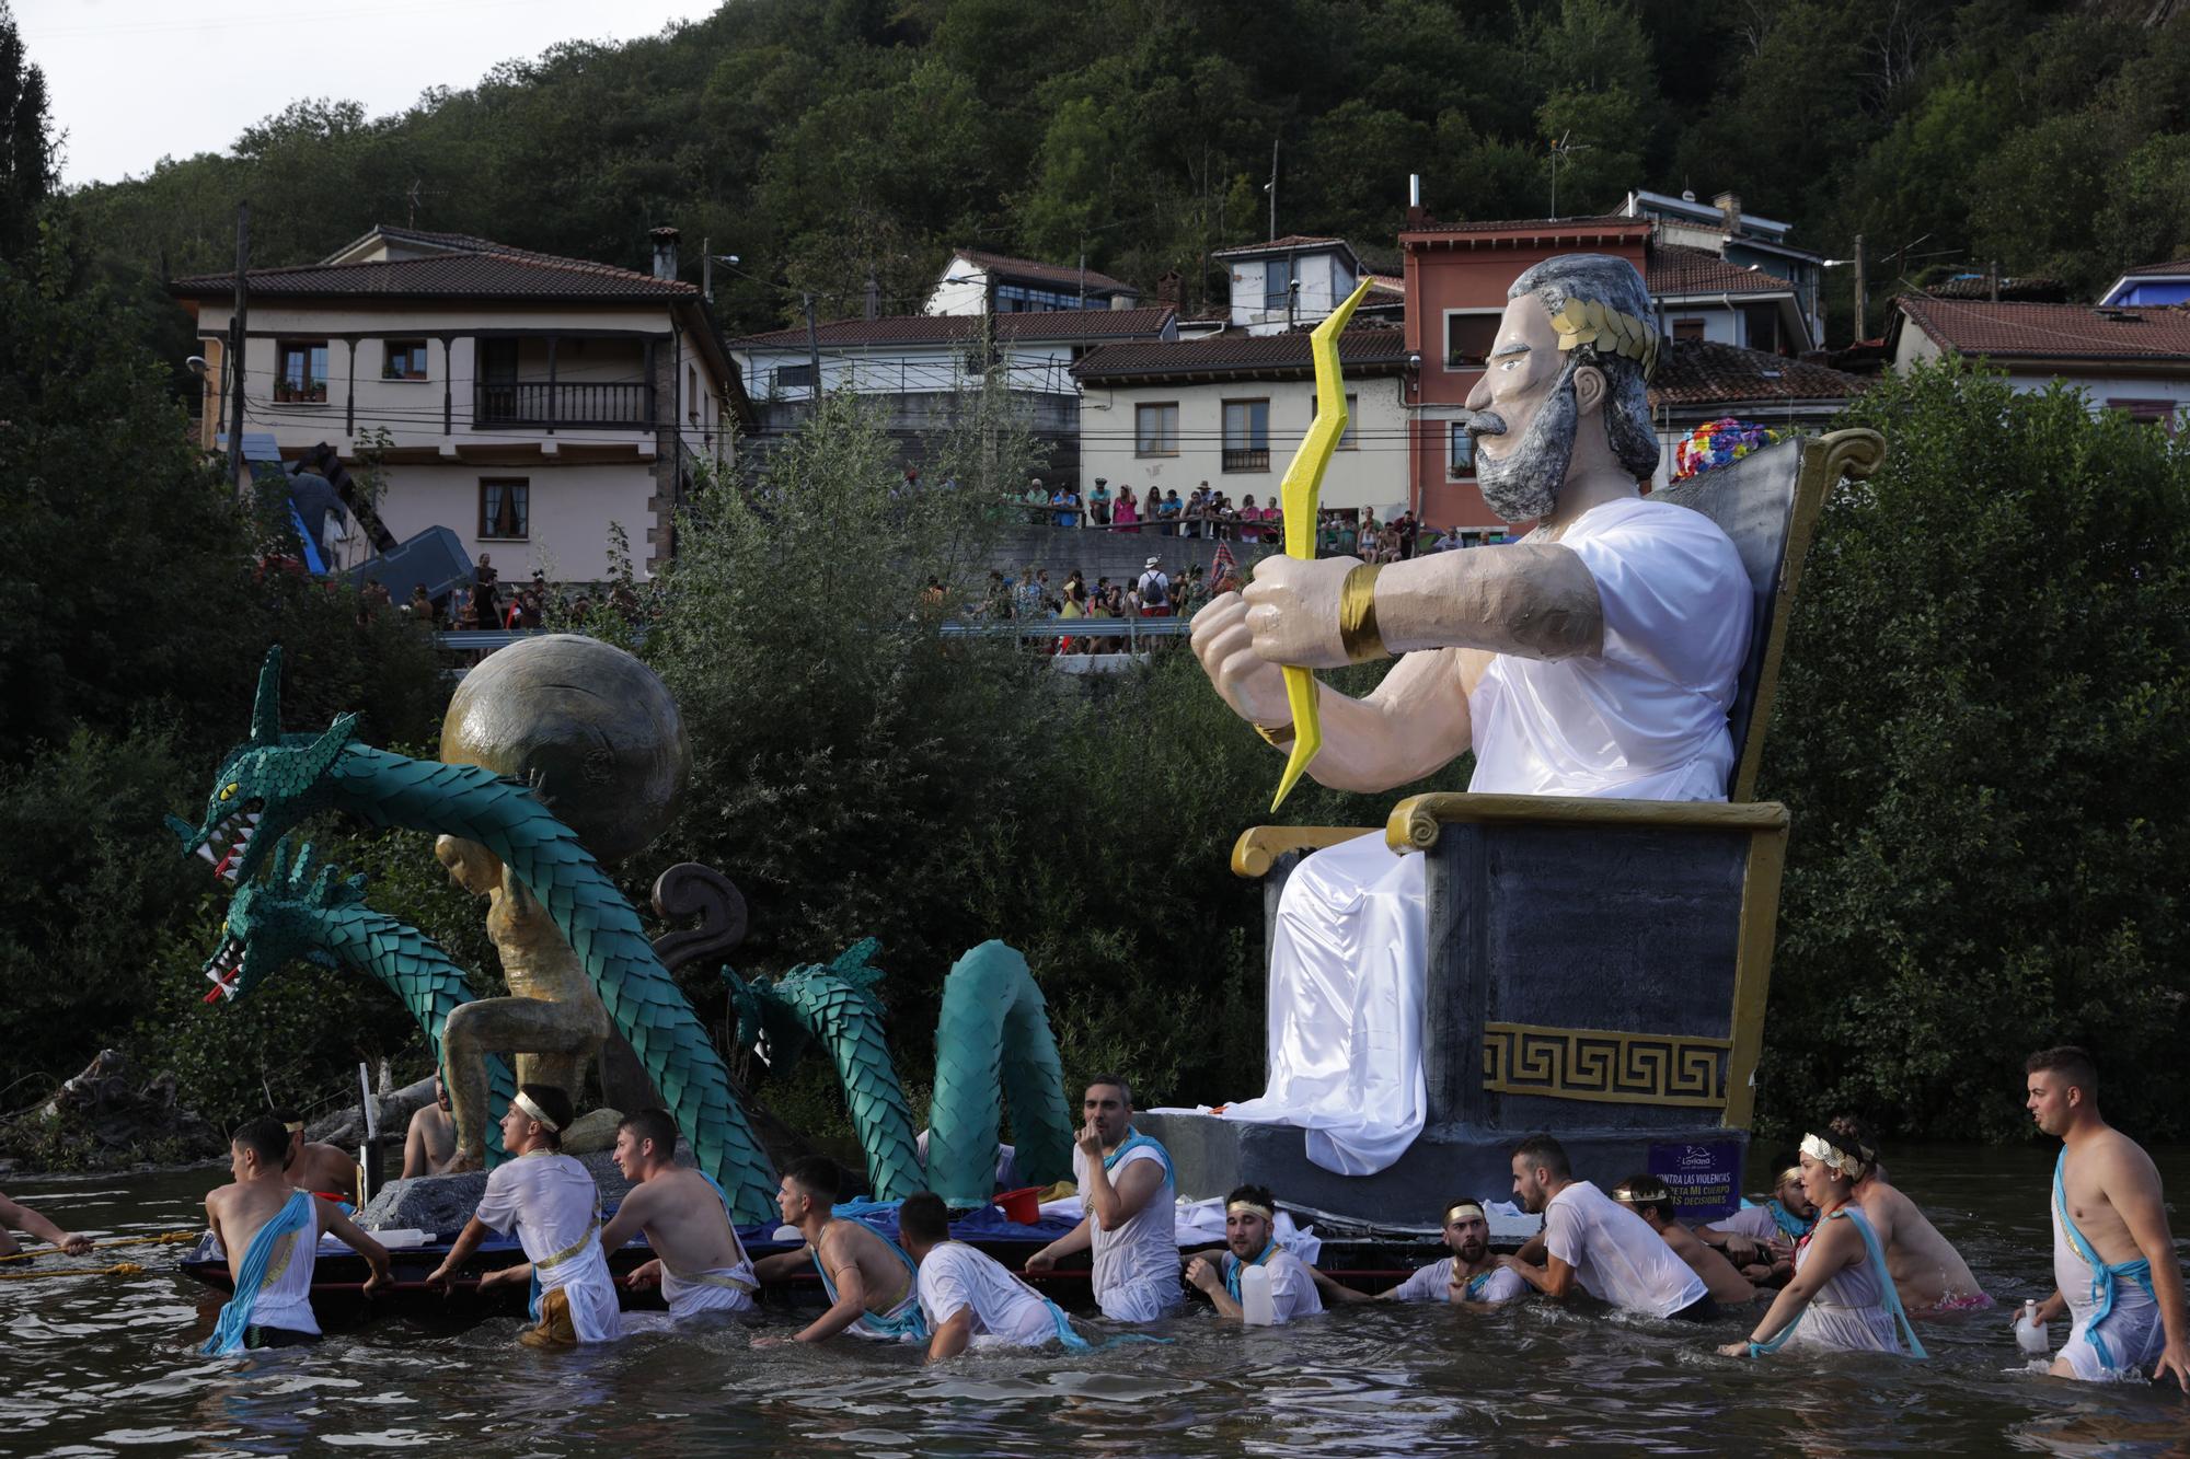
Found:
[[[1347, 434], [1323, 475], [1323, 506], [1406, 506], [1406, 335], [1349, 329], [1338, 337]], [[1316, 416], [1307, 333], [1167, 344], [1113, 344], [1073, 366], [1080, 381], [1080, 478], [1110, 491], [1161, 489], [1185, 499], [1209, 482], [1233, 504], [1266, 506]]]

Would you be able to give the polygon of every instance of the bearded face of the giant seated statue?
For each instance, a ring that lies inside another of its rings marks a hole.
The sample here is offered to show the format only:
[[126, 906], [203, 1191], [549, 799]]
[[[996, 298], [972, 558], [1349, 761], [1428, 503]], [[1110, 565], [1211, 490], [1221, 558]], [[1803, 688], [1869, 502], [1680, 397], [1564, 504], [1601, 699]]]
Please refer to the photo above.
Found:
[[1535, 294], [1507, 305], [1483, 379], [1467, 397], [1476, 486], [1505, 521], [1551, 515], [1575, 456], [1572, 355]]

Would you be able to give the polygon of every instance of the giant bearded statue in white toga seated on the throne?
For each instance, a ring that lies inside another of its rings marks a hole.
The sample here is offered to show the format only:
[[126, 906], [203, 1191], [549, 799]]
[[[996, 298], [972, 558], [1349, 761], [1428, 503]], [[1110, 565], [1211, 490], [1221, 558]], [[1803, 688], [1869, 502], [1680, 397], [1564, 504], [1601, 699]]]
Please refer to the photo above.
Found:
[[[1316, 690], [1310, 776], [1388, 791], [1472, 749], [1472, 791], [1726, 800], [1750, 581], [1717, 524], [1638, 491], [1658, 464], [1653, 357], [1627, 261], [1524, 272], [1467, 429], [1485, 502], [1535, 530], [1386, 565], [1264, 559], [1244, 596], [1194, 618], [1233, 712], [1283, 754], [1281, 666], [1399, 655], [1362, 699]], [[1305, 1126], [1307, 1157], [1342, 1174], [1391, 1165], [1421, 1133], [1421, 863], [1378, 832], [1307, 857], [1279, 898], [1270, 1089], [1226, 1117]]]

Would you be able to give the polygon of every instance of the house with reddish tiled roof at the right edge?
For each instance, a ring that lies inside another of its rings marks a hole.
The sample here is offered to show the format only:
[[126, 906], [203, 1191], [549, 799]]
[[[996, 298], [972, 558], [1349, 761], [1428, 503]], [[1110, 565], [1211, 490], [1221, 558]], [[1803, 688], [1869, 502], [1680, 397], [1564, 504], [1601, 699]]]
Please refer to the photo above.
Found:
[[2190, 423], [2190, 311], [2010, 305], [1903, 294], [1886, 326], [1897, 370], [1949, 351], [2006, 370], [2017, 390], [2065, 381], [2091, 410], [2122, 410], [2168, 434]]

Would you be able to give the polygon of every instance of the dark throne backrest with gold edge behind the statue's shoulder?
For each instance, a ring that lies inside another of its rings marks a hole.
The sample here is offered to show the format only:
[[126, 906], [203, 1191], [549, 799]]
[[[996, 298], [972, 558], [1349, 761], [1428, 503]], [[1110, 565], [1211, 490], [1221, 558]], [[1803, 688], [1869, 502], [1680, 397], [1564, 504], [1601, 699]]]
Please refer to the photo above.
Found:
[[1787, 642], [1787, 611], [1794, 607], [1818, 510], [1844, 469], [1868, 475], [1879, 453], [1883, 440], [1870, 432], [1783, 440], [1730, 467], [1651, 493], [1656, 502], [1673, 502], [1717, 521], [1750, 574], [1750, 651], [1734, 683], [1734, 703], [1726, 712], [1734, 734], [1728, 800], [1750, 800], [1756, 789], [1780, 648]]

